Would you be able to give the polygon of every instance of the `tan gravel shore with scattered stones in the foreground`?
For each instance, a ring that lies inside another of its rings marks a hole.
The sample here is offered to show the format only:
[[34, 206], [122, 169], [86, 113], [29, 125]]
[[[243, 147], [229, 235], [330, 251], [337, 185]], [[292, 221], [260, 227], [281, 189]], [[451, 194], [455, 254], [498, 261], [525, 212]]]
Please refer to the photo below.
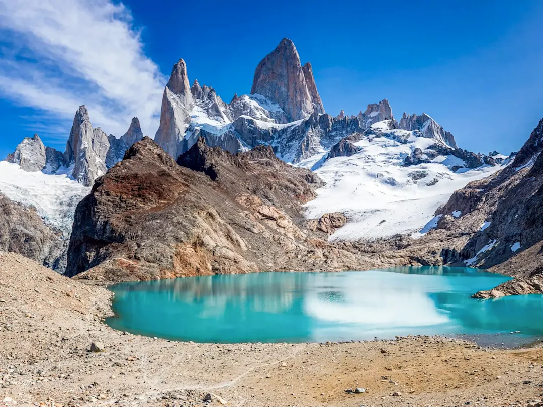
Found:
[[105, 326], [110, 298], [0, 253], [0, 406], [536, 407], [543, 397], [542, 347], [489, 350], [428, 336], [173, 342]]

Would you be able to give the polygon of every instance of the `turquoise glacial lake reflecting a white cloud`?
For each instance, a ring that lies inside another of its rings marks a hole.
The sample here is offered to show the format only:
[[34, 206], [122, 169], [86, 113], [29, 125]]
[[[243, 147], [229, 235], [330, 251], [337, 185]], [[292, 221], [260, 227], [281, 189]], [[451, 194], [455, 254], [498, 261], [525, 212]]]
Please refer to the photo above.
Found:
[[122, 283], [110, 287], [116, 316], [106, 323], [135, 334], [226, 343], [543, 336], [543, 296], [470, 298], [508, 279], [469, 268], [400, 267]]

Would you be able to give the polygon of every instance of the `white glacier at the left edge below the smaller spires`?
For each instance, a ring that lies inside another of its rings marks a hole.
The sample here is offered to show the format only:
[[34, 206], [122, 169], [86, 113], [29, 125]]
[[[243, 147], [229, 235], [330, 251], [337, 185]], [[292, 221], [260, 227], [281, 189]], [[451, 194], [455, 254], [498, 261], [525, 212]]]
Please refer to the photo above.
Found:
[[[60, 171], [71, 173], [71, 171]], [[67, 238], [77, 204], [91, 192], [66, 174], [27, 173], [17, 164], [0, 161], [0, 193], [24, 206], [32, 206], [47, 225]]]

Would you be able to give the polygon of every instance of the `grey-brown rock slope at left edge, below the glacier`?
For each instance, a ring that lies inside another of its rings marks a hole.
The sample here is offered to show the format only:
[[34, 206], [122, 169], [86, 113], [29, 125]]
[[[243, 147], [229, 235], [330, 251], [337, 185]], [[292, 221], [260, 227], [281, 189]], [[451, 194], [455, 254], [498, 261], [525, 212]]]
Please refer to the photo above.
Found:
[[33, 208], [0, 194], [0, 251], [19, 253], [62, 272], [66, 247], [61, 233], [49, 228]]

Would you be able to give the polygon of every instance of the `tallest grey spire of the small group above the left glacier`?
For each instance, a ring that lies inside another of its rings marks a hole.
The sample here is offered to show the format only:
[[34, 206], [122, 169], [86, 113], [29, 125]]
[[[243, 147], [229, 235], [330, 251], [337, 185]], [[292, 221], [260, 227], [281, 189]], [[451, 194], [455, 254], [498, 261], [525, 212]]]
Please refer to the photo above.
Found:
[[79, 106], [64, 152], [64, 165], [73, 165], [73, 179], [92, 186], [94, 180], [107, 171], [105, 161], [109, 149], [108, 135], [100, 128], [93, 129], [87, 108]]

